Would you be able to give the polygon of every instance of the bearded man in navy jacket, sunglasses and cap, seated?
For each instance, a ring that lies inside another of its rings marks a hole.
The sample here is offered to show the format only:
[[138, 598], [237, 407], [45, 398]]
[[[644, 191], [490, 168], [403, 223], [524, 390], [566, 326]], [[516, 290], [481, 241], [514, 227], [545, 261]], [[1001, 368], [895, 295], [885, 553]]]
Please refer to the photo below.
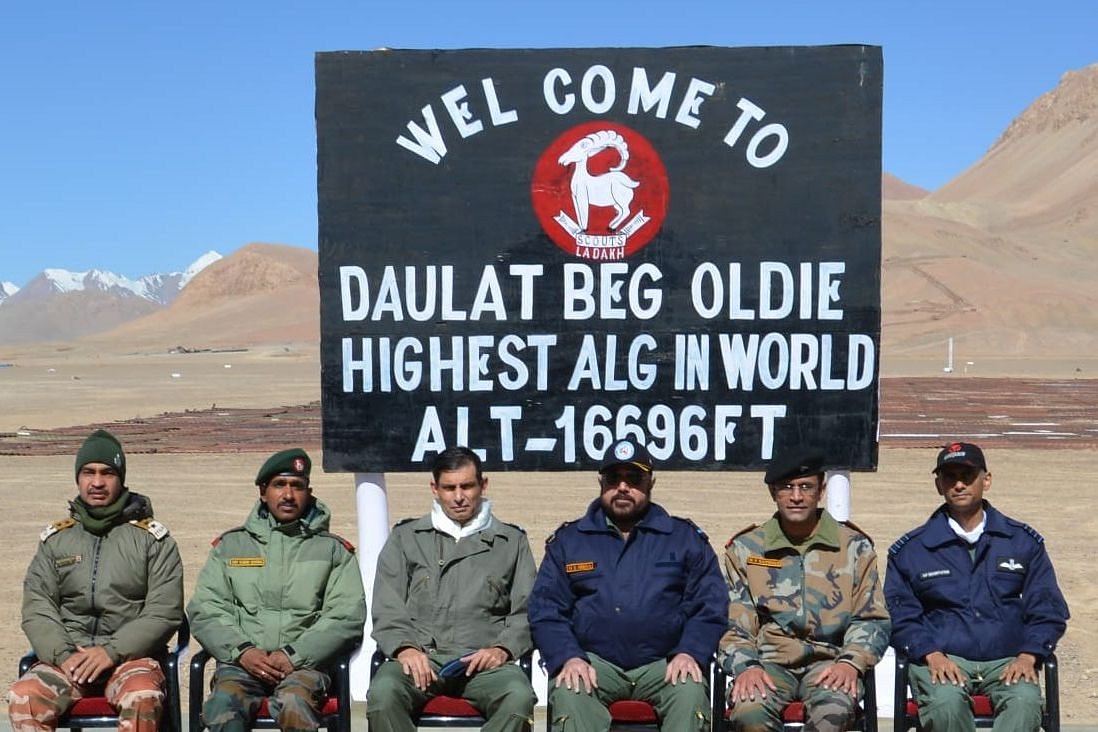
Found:
[[600, 497], [546, 541], [529, 616], [554, 732], [605, 732], [620, 699], [650, 702], [664, 730], [709, 729], [728, 593], [708, 538], [651, 503], [654, 484], [645, 448], [615, 443]]

